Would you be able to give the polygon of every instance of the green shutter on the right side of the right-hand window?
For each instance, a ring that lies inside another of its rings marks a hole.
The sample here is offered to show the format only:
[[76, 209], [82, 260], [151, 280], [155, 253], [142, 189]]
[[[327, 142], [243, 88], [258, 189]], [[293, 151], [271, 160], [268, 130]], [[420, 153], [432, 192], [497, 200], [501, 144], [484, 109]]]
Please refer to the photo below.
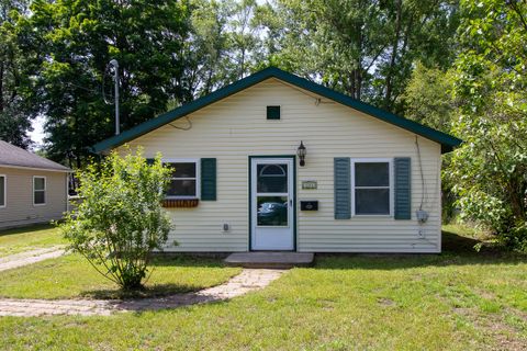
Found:
[[394, 159], [395, 219], [412, 219], [412, 163], [410, 157]]

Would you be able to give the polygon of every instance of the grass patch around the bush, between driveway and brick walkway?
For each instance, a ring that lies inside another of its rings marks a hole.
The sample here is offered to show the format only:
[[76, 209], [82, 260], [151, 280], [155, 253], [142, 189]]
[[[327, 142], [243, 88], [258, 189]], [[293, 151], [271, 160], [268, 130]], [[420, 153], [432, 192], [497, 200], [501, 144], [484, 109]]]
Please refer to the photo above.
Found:
[[0, 296], [15, 298], [128, 298], [198, 291], [240, 272], [212, 259], [159, 258], [146, 288], [123, 292], [79, 254], [46, 260], [0, 274]]

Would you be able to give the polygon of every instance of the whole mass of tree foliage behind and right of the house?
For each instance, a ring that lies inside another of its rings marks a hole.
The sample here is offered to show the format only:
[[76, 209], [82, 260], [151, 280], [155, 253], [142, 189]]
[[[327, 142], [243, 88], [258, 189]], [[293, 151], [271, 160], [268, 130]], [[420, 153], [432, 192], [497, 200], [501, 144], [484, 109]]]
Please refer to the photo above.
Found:
[[81, 167], [113, 134], [114, 58], [123, 129], [273, 65], [462, 137], [444, 203], [522, 245], [525, 2], [0, 1], [2, 139], [26, 147], [42, 115], [46, 155]]

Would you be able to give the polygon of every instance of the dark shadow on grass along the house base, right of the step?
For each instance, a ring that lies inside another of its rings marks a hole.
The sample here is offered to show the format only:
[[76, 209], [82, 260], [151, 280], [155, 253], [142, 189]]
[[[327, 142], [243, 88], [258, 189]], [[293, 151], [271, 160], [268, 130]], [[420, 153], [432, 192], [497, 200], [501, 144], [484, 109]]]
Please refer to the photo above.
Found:
[[527, 263], [527, 254], [509, 252], [498, 247], [483, 245], [478, 252], [474, 246], [481, 242], [475, 238], [442, 231], [441, 253], [322, 253], [316, 254], [314, 268], [399, 270], [422, 267]]

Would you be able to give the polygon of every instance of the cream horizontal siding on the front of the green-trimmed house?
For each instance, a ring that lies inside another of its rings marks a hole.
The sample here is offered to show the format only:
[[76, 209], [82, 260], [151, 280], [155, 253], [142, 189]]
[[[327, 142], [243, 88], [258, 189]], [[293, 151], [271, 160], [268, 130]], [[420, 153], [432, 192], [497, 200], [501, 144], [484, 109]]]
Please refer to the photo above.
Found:
[[[318, 200], [317, 212], [298, 211], [299, 251], [437, 252], [440, 247], [440, 145], [418, 138], [429, 219], [426, 239], [418, 237], [415, 211], [421, 201], [421, 174], [415, 135], [350, 107], [269, 79], [189, 115], [190, 131], [165, 125], [132, 143], [147, 157], [217, 159], [217, 201], [195, 208], [169, 210], [175, 224], [169, 242], [177, 251], [248, 250], [248, 156], [294, 155], [300, 140], [306, 166], [296, 166], [296, 204]], [[281, 106], [281, 120], [266, 118], [267, 105]], [[182, 118], [172, 125], [186, 127]], [[335, 157], [412, 158], [412, 220], [393, 217], [334, 219]], [[302, 190], [304, 180], [316, 190]], [[222, 224], [231, 230], [222, 233]]]

